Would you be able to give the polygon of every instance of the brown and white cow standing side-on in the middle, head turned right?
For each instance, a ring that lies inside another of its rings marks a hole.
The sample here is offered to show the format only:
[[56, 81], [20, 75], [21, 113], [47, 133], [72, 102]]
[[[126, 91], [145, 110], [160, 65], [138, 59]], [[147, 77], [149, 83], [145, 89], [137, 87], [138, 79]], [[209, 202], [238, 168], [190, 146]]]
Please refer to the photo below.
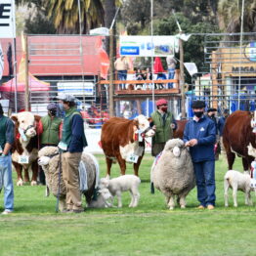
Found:
[[154, 131], [144, 115], [139, 115], [134, 120], [110, 118], [103, 125], [101, 137], [107, 160], [107, 176], [110, 176], [111, 165], [115, 160], [120, 165], [122, 175], [125, 174], [126, 162], [133, 162], [134, 174], [138, 176], [145, 151], [145, 137], [153, 135]]

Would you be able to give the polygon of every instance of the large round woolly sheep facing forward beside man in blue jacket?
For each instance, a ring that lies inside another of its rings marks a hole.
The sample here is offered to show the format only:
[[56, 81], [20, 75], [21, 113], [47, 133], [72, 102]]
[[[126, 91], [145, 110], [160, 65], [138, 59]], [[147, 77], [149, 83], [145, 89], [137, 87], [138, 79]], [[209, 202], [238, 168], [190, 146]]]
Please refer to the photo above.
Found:
[[151, 167], [151, 182], [165, 195], [170, 210], [175, 207], [175, 195], [181, 208], [186, 207], [186, 196], [195, 186], [192, 158], [180, 139], [169, 140], [161, 156]]

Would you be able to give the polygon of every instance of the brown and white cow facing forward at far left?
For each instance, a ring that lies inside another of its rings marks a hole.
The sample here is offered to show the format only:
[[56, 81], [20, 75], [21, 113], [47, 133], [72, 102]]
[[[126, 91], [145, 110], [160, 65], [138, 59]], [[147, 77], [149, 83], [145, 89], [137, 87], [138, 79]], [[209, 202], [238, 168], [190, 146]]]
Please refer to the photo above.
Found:
[[17, 186], [23, 185], [22, 168], [24, 169], [24, 182], [29, 182], [28, 169], [32, 169], [31, 186], [37, 184], [38, 148], [39, 140], [36, 134], [36, 123], [40, 116], [23, 111], [12, 116], [15, 122], [15, 143], [12, 148], [12, 162], [17, 171]]

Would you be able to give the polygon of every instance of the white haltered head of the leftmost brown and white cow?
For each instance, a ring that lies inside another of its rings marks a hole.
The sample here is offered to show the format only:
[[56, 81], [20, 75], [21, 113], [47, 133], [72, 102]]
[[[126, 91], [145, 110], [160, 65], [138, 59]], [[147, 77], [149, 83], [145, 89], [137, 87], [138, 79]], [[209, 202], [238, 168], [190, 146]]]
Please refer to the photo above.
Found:
[[35, 117], [31, 112], [20, 112], [17, 115], [13, 115], [12, 119], [15, 121], [16, 128], [21, 136], [32, 138], [36, 135]]

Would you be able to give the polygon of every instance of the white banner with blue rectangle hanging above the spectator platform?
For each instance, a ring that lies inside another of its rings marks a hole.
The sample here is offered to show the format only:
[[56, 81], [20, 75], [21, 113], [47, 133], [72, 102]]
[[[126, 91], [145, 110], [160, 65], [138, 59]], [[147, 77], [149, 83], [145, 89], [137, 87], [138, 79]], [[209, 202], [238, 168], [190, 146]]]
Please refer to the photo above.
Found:
[[120, 36], [120, 56], [163, 57], [179, 52], [176, 36]]

